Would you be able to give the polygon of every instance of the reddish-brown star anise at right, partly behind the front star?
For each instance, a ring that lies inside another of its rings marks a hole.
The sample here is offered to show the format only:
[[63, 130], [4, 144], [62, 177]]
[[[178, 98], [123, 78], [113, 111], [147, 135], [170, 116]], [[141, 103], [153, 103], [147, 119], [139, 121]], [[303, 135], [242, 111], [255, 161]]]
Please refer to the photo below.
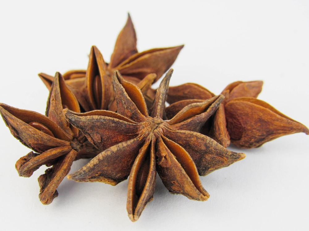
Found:
[[[241, 148], [255, 148], [280, 136], [297, 132], [309, 134], [303, 124], [283, 115], [268, 103], [256, 99], [262, 90], [262, 81], [229, 84], [221, 94], [225, 96], [216, 113], [203, 127], [202, 133], [224, 147], [230, 141]], [[214, 94], [198, 84], [186, 83], [170, 87], [167, 110], [171, 118], [184, 106], [213, 97]]]

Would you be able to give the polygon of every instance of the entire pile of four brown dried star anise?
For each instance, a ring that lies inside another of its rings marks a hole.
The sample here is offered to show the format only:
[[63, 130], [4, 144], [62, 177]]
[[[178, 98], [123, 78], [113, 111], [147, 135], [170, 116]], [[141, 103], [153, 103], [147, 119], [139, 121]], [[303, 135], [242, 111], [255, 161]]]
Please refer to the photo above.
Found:
[[237, 81], [220, 95], [194, 83], [169, 87], [168, 69], [182, 48], [138, 52], [128, 16], [110, 63], [93, 46], [87, 70], [39, 74], [50, 90], [46, 115], [0, 103], [12, 135], [33, 150], [17, 161], [19, 176], [50, 167], [38, 179], [43, 204], [58, 196], [74, 160], [92, 158], [67, 177], [112, 185], [129, 177], [127, 211], [136, 221], [153, 198], [156, 173], [171, 193], [205, 201], [209, 194], [199, 176], [245, 157], [227, 150], [230, 143], [253, 148], [279, 136], [309, 134], [256, 99], [262, 81]]

